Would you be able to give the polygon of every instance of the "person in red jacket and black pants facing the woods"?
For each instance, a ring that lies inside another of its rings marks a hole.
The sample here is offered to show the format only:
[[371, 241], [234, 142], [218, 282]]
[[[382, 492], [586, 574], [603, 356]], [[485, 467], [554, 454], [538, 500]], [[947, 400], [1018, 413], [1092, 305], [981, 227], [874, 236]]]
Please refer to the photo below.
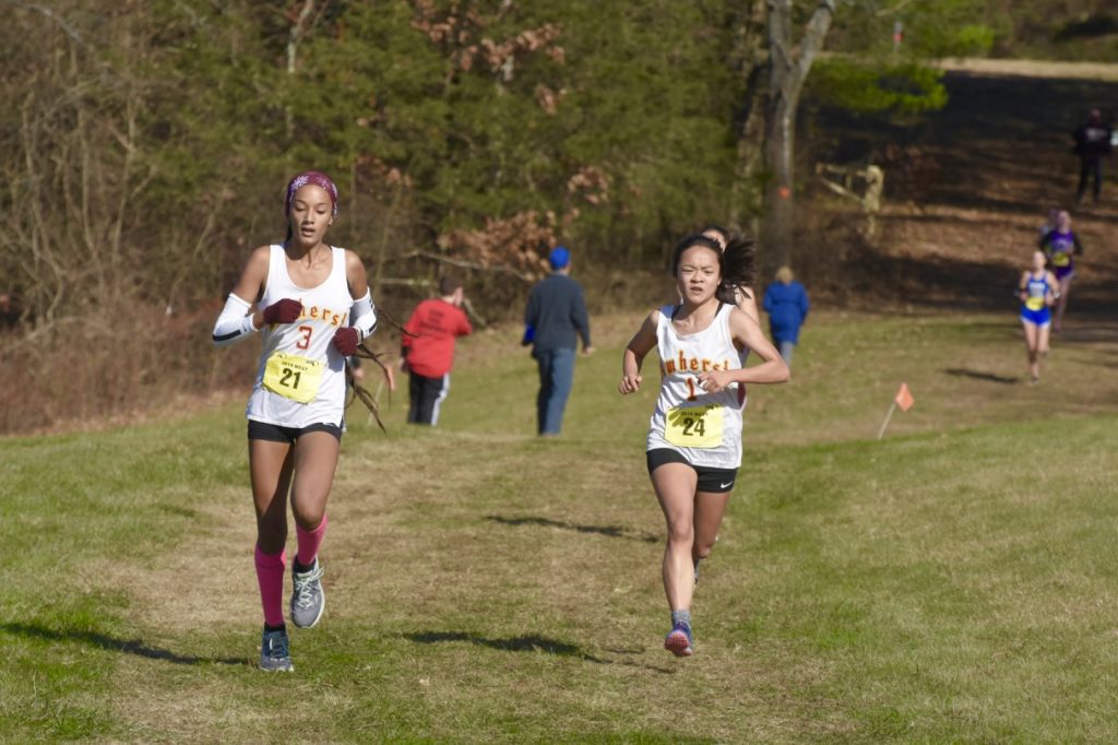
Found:
[[400, 343], [402, 367], [410, 376], [411, 405], [409, 424], [436, 424], [438, 409], [451, 389], [454, 367], [454, 341], [473, 332], [462, 311], [465, 294], [462, 283], [444, 276], [438, 283], [439, 298], [419, 303], [404, 324], [407, 333]]

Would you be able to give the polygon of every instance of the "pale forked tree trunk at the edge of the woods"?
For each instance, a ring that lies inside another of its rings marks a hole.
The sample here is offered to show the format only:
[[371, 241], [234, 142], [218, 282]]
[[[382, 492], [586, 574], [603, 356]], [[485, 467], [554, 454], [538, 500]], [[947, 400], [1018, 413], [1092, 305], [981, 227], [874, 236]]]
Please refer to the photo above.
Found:
[[792, 38], [792, 0], [768, 0], [769, 100], [765, 110], [765, 190], [762, 271], [792, 262], [795, 236], [796, 109], [804, 81], [823, 48], [837, 0], [818, 0], [798, 54]]

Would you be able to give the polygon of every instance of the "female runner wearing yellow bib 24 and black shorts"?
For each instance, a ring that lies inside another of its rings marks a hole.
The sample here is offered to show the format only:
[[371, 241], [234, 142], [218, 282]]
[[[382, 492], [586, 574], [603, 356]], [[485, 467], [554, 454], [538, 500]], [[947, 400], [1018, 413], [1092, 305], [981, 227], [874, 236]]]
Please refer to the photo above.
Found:
[[[659, 308], [644, 321], [625, 349], [617, 388], [623, 395], [638, 390], [641, 365], [659, 350], [660, 396], [646, 456], [667, 522], [663, 575], [672, 630], [664, 647], [689, 657], [695, 566], [710, 555], [741, 465], [745, 386], [783, 383], [788, 366], [754, 319], [717, 296], [720, 285], [752, 284], [751, 242], [735, 237], [723, 251], [713, 238], [688, 236], [675, 246], [672, 274], [680, 303]], [[747, 349], [759, 365], [741, 366]]]

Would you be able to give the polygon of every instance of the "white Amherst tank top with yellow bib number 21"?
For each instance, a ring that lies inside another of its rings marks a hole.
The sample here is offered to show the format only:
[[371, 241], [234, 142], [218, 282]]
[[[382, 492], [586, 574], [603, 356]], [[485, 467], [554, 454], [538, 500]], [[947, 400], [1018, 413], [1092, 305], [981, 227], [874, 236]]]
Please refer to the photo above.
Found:
[[303, 303], [303, 312], [294, 323], [264, 327], [260, 365], [245, 413], [250, 419], [296, 428], [342, 425], [345, 358], [332, 342], [334, 331], [349, 326], [353, 298], [345, 280], [345, 249], [330, 252], [330, 275], [319, 286], [305, 289], [287, 274], [283, 246], [271, 248], [259, 307], [291, 298]]

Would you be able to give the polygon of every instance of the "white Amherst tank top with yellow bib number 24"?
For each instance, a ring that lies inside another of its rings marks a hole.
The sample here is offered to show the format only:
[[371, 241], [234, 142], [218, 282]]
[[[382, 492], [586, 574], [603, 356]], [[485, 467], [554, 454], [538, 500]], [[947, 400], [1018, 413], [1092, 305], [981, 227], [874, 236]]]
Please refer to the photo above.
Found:
[[646, 450], [674, 450], [691, 465], [739, 468], [745, 387], [732, 384], [716, 394], [699, 387], [703, 371], [741, 368], [730, 332], [733, 307], [723, 304], [709, 327], [689, 336], [680, 336], [672, 326], [674, 310], [661, 308], [656, 323], [661, 383]]

